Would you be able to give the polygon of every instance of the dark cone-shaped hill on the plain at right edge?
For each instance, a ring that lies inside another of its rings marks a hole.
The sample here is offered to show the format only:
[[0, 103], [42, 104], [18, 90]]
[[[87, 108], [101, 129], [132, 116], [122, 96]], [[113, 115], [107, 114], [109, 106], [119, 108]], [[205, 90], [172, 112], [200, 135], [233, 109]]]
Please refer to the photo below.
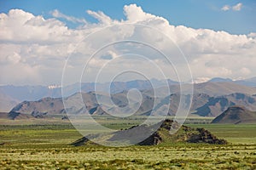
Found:
[[249, 111], [244, 106], [231, 106], [212, 120], [212, 123], [255, 123], [256, 111]]

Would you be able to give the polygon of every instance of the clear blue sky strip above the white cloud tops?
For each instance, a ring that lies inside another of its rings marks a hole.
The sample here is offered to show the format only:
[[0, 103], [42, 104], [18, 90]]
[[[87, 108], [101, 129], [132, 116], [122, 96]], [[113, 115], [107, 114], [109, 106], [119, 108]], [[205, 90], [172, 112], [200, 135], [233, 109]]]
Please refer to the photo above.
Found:
[[[85, 11], [102, 11], [112, 19], [125, 18], [123, 7], [125, 4], [136, 3], [145, 12], [162, 16], [174, 26], [189, 26], [192, 28], [207, 28], [215, 31], [228, 31], [231, 34], [248, 34], [256, 31], [256, 1], [234, 0], [147, 0], [147, 1], [62, 1], [62, 0], [9, 0], [0, 1], [0, 12], [8, 13], [11, 8], [20, 8], [35, 15], [43, 15], [50, 18], [50, 11], [58, 9], [62, 14], [77, 18], [84, 18], [89, 22], [96, 22]], [[232, 6], [242, 3], [241, 10], [232, 10]], [[230, 6], [230, 10], [223, 11], [224, 5]], [[67, 22], [67, 26], [73, 28], [77, 25]]]

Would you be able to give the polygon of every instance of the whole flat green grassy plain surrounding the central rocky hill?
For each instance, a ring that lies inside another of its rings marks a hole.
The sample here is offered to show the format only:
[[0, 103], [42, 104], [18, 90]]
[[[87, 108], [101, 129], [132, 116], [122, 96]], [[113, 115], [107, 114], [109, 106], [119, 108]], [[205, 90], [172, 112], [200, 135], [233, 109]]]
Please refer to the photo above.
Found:
[[[131, 127], [138, 121], [106, 120], [98, 121], [115, 129]], [[227, 139], [230, 144], [226, 145], [160, 144], [114, 148], [71, 146], [81, 134], [68, 121], [0, 122], [0, 169], [256, 169], [256, 124], [207, 124], [201, 119], [197, 124], [188, 124], [205, 127]]]

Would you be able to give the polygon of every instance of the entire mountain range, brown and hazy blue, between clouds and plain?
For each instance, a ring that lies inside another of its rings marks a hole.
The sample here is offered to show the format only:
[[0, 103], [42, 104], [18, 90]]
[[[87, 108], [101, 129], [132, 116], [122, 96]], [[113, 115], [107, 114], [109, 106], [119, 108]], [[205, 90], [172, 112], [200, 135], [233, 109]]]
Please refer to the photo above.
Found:
[[[243, 80], [243, 82], [253, 82], [254, 79]], [[97, 89], [102, 89], [102, 92], [93, 92], [94, 83], [82, 83], [82, 99], [84, 104], [79, 100], [80, 93], [78, 85], [73, 84], [67, 88], [67, 96], [63, 99], [72, 101], [77, 105], [67, 106], [68, 112], [81, 113], [88, 111], [90, 115], [104, 115], [106, 112], [120, 112], [117, 108], [125, 108], [128, 105], [127, 93], [131, 88], [137, 88], [142, 94], [142, 105], [137, 108], [137, 115], [162, 114], [168, 112], [168, 115], [173, 116], [179, 104], [180, 99], [180, 86], [177, 82], [168, 81], [171, 95], [166, 96], [165, 86], [161, 87], [164, 82], [154, 80], [154, 87], [152, 88], [149, 81], [131, 81], [131, 82], [113, 82], [111, 83], [111, 99], [115, 105], [119, 107], [109, 107], [108, 104], [108, 89], [106, 84], [99, 84]], [[240, 82], [239, 82], [240, 83]], [[244, 86], [238, 82], [231, 81], [230, 79], [214, 78], [209, 82], [198, 83], [194, 85], [193, 101], [190, 109], [191, 115], [197, 116], [218, 116], [228, 107], [232, 105], [243, 105], [250, 111], [256, 111], [256, 88], [251, 86]], [[109, 85], [109, 84], [108, 84]], [[252, 84], [251, 84], [252, 85]], [[183, 84], [183, 96], [189, 98], [189, 88], [191, 85]], [[4, 92], [4, 93], [3, 93]], [[154, 96], [155, 92], [160, 94]], [[27, 94], [27, 95], [26, 95]], [[43, 96], [43, 97], [42, 97]], [[44, 97], [49, 96], [49, 97]], [[97, 99], [107, 101], [106, 105], [97, 103]], [[164, 96], [164, 97], [163, 97]], [[29, 115], [34, 117], [44, 117], [53, 114], [65, 114], [65, 109], [61, 98], [60, 87], [15, 87], [4, 86], [0, 87], [1, 97], [1, 110], [9, 111], [12, 118], [18, 117], [19, 114]], [[26, 99], [25, 99], [26, 98]], [[21, 103], [20, 100], [24, 100]], [[157, 102], [156, 102], [157, 101]], [[79, 103], [80, 102], [80, 103]], [[139, 104], [137, 99], [131, 99], [131, 107], [135, 108]], [[158, 105], [153, 108], [156, 102]], [[170, 105], [169, 105], [170, 103]], [[129, 113], [129, 109], [122, 110], [123, 113]]]

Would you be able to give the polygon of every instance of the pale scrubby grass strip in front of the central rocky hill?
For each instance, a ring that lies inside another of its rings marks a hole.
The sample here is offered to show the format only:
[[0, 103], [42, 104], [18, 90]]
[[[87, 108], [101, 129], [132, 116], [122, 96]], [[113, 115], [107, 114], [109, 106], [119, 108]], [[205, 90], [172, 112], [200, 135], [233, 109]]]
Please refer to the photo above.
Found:
[[38, 169], [255, 169], [255, 145], [70, 147], [67, 144], [2, 146], [0, 168]]

